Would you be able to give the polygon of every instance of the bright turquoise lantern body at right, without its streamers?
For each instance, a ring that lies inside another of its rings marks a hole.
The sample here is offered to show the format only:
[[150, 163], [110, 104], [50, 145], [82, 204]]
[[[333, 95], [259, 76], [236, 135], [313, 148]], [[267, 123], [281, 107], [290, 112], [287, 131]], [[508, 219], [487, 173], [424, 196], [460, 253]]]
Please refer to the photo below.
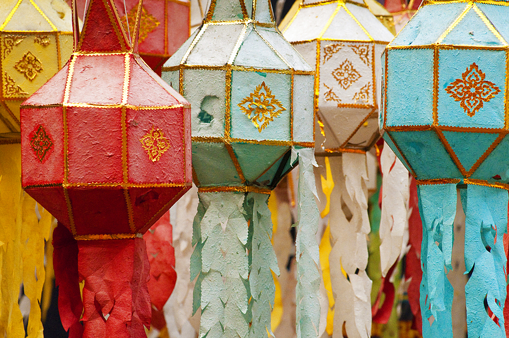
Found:
[[426, 5], [384, 51], [380, 129], [417, 179], [509, 182], [506, 12]]

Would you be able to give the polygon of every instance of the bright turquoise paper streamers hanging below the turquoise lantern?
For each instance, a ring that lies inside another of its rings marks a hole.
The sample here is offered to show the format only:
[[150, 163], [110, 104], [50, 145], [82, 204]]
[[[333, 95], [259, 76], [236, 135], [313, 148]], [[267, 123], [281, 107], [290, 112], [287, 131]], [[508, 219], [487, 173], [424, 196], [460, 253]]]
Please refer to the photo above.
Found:
[[[422, 218], [422, 282], [420, 306], [425, 338], [452, 338], [454, 290], [446, 277], [451, 270], [456, 214], [456, 184], [418, 186]], [[507, 191], [467, 185], [460, 189], [465, 211], [465, 286], [468, 335], [505, 337]]]

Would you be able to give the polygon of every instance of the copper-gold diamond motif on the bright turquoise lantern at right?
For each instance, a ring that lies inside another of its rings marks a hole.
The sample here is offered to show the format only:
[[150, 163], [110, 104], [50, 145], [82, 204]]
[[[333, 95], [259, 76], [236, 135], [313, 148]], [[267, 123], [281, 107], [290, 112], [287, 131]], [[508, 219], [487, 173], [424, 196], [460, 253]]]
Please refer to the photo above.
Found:
[[460, 106], [470, 117], [483, 107], [483, 102], [489, 102], [500, 93], [495, 83], [486, 81], [485, 77], [486, 74], [474, 62], [461, 74], [461, 78], [445, 88], [450, 97], [460, 102]]

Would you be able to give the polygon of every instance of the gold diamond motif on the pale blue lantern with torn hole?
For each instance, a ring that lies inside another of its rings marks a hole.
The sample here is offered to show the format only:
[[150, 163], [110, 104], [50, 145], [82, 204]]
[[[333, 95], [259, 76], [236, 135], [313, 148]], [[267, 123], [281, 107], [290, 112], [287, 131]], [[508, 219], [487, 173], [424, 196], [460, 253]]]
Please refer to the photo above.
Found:
[[274, 121], [281, 111], [286, 110], [281, 102], [272, 95], [270, 88], [265, 85], [265, 81], [254, 90], [254, 93], [243, 98], [237, 105], [258, 128], [258, 132], [262, 132], [270, 121]]

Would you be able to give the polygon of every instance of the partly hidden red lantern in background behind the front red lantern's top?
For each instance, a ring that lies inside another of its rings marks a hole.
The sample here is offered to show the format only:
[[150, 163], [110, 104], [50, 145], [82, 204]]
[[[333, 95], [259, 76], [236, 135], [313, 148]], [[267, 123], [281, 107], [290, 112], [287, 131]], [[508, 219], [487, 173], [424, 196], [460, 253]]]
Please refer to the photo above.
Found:
[[[66, 1], [71, 5], [72, 0]], [[86, 3], [87, 0], [76, 1], [80, 19], [83, 19]], [[124, 25], [124, 31], [132, 34], [139, 0], [115, 0], [114, 3]], [[158, 75], [161, 75], [161, 66], [164, 62], [189, 37], [190, 15], [189, 0], [145, 0], [143, 2], [138, 53]]]

